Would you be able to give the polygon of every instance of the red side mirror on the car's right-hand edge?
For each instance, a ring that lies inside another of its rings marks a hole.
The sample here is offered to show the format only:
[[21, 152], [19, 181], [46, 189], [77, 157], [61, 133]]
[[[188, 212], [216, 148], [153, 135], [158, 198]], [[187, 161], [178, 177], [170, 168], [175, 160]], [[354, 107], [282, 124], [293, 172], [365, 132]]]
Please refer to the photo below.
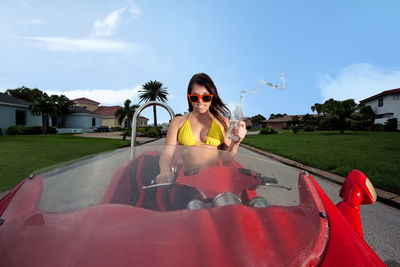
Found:
[[368, 177], [359, 170], [352, 170], [344, 181], [339, 193], [343, 201], [336, 207], [342, 212], [354, 230], [364, 238], [360, 217], [360, 205], [376, 201], [374, 186]]

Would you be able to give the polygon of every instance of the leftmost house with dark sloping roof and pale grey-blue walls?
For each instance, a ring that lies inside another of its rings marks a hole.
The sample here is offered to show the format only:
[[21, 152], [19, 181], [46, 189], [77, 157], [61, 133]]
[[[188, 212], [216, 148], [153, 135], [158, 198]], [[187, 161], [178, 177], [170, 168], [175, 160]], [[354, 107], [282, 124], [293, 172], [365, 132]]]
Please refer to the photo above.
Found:
[[35, 116], [29, 110], [30, 103], [0, 93], [0, 135], [10, 126], [42, 126], [42, 115]]

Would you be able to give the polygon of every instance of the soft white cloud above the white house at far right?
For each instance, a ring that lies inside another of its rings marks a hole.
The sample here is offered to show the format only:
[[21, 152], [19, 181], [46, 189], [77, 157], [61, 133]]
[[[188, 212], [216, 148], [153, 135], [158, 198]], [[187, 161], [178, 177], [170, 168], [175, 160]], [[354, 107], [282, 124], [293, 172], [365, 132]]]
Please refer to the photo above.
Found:
[[345, 67], [336, 77], [321, 75], [318, 82], [323, 100], [363, 100], [385, 90], [400, 87], [400, 70], [388, 70], [368, 63]]

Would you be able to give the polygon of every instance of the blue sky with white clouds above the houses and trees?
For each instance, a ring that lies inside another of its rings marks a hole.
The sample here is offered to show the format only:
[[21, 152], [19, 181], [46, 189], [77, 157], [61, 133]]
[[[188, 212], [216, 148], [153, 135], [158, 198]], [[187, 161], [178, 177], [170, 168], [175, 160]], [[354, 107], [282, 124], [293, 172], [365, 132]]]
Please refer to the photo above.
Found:
[[157, 80], [183, 113], [195, 73], [232, 108], [240, 91], [279, 85], [285, 70], [287, 88], [246, 95], [244, 115], [311, 113], [331, 97], [400, 87], [399, 10], [399, 1], [1, 1], [0, 91], [122, 105]]

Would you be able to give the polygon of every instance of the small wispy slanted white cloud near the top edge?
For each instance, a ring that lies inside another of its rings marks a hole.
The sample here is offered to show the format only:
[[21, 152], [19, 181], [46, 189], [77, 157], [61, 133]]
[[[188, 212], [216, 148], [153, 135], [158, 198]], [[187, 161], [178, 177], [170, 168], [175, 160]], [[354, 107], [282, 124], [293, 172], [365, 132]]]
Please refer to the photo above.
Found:
[[93, 31], [91, 37], [109, 37], [114, 34], [118, 26], [121, 24], [122, 15], [129, 12], [132, 16], [137, 17], [141, 14], [141, 10], [131, 5], [117, 9], [106, 16], [104, 20], [96, 20], [93, 23]]

